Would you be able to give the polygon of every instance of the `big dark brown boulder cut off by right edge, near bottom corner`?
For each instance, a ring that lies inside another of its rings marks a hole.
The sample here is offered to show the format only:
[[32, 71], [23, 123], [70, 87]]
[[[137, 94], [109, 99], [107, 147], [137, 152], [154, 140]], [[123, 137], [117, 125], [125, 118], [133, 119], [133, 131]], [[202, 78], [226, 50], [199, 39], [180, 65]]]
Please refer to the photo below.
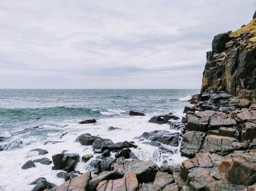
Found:
[[256, 182], [256, 153], [242, 153], [233, 157], [227, 179], [245, 186]]

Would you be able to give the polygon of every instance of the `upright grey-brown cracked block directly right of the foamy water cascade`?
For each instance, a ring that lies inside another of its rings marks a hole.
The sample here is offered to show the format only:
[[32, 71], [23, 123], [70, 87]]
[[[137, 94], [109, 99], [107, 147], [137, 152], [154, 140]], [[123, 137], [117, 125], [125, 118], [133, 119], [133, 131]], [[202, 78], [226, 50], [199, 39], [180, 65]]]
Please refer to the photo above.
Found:
[[206, 133], [188, 131], [184, 134], [183, 142], [180, 147], [182, 156], [192, 158], [202, 147]]

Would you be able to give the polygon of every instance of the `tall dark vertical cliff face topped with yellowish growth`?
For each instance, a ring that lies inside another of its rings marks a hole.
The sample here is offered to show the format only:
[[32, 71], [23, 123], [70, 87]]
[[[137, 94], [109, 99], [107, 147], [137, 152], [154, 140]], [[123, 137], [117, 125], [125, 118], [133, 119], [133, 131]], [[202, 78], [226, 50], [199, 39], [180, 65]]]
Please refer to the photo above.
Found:
[[248, 98], [253, 100], [256, 95], [256, 19], [235, 32], [216, 35], [206, 59], [201, 93], [217, 90], [233, 96], [249, 94]]

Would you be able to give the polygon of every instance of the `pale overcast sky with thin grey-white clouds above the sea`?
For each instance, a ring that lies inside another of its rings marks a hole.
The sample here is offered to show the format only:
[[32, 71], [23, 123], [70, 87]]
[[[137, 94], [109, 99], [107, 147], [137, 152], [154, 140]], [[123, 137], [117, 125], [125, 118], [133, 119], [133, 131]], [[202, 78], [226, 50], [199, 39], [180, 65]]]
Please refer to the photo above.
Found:
[[200, 89], [253, 0], [1, 0], [0, 88]]

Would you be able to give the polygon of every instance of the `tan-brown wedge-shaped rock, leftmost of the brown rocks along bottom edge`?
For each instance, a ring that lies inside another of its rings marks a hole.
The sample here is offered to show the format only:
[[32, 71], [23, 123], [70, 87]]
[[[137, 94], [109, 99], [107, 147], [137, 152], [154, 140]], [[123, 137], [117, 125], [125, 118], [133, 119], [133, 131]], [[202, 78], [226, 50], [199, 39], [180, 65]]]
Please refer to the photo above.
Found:
[[88, 171], [48, 191], [69, 191], [69, 190], [70, 191], [71, 190], [72, 191], [88, 191], [90, 180], [91, 180], [91, 172]]

